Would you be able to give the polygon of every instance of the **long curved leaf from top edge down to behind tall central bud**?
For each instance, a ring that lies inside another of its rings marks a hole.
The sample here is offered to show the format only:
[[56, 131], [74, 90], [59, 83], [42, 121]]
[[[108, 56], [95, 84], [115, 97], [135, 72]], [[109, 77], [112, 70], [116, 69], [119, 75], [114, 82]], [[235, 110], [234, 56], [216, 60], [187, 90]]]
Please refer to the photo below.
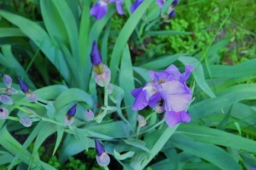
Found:
[[129, 17], [129, 19], [123, 26], [119, 36], [117, 37], [110, 61], [111, 83], [114, 83], [116, 81], [116, 67], [119, 67], [122, 50], [125, 47], [135, 27], [139, 23], [145, 10], [148, 8], [152, 1], [153, 0], [144, 0], [143, 3], [140, 4], [137, 10], [135, 10], [131, 17]]

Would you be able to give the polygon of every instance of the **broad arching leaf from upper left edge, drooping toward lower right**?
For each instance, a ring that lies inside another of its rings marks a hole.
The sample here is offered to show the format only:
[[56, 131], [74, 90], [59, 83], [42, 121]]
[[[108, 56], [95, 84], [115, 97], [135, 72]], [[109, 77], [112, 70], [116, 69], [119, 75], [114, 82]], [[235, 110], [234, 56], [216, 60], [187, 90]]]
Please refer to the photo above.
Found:
[[43, 28], [26, 18], [3, 10], [0, 10], [0, 15], [19, 27], [23, 34], [33, 40], [38, 47], [41, 46], [41, 51], [46, 55], [50, 62], [55, 65], [64, 79], [67, 82], [70, 82], [69, 68], [67, 67], [63, 54], [59, 50], [58, 46], [53, 44], [52, 40]]

